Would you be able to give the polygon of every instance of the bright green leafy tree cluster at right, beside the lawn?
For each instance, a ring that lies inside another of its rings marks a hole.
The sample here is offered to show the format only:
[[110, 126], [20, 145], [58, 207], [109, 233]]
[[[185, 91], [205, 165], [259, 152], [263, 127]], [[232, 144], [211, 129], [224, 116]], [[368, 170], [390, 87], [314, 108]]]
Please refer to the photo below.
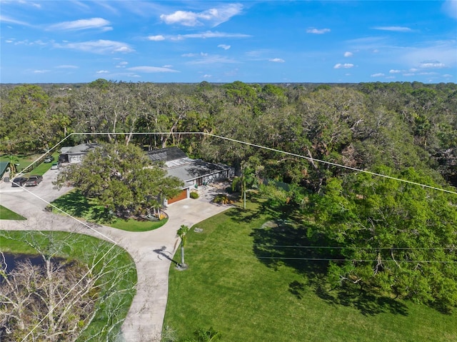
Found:
[[[430, 186], [413, 169], [389, 176]], [[311, 201], [311, 240], [334, 246], [331, 282], [358, 283], [396, 296], [457, 305], [457, 197], [358, 173], [332, 178]]]

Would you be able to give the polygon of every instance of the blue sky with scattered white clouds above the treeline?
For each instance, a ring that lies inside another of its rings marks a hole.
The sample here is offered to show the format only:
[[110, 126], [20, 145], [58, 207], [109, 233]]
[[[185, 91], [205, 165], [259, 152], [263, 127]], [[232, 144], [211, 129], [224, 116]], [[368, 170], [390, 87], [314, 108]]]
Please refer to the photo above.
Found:
[[0, 29], [1, 83], [457, 81], [457, 0], [0, 0]]

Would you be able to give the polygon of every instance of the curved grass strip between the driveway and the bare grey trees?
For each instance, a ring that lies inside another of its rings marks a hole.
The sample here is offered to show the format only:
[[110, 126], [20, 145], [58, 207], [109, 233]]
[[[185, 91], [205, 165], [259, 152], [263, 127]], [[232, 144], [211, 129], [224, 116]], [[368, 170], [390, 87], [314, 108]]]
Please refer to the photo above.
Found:
[[[49, 248], [51, 250], [56, 248], [56, 246], [65, 246], [61, 249], [61, 253], [59, 253], [58, 256], [71, 260], [79, 260], [82, 263], [90, 263], [95, 255], [101, 255], [101, 252], [107, 252], [112, 247], [112, 244], [106, 241], [75, 233], [3, 231], [0, 234], [0, 251], [15, 254], [36, 254], [36, 250], [34, 250], [29, 243], [26, 243], [26, 241], [33, 241], [34, 244], [39, 245], [41, 248]], [[116, 255], [116, 253], [118, 254]], [[112, 256], [115, 257], [112, 258]], [[111, 333], [113, 336], [116, 336], [121, 330], [121, 322], [118, 322], [116, 326], [112, 326], [113, 318], [110, 317], [109, 313], [111, 313], [113, 308], [116, 308], [116, 319], [125, 317], [136, 293], [133, 289], [137, 280], [136, 268], [129, 253], [118, 246], [114, 246], [114, 248], [101, 259], [101, 263], [104, 260], [110, 259], [112, 260], [108, 264], [109, 268], [118, 270], [125, 267], [129, 268], [129, 271], [126, 271], [123, 274], [122, 280], [114, 286], [114, 291], [119, 292], [116, 296], [112, 296], [112, 292], [109, 293], [109, 296], [105, 296], [106, 289], [109, 288], [112, 282], [110, 282], [109, 279], [103, 279], [103, 281], [106, 282], [106, 288], [100, 288], [99, 297], [106, 297], [106, 299], [100, 299], [97, 302], [97, 306], [102, 310], [96, 315], [96, 318], [91, 322], [88, 328], [86, 328], [86, 331], [79, 337], [78, 341], [80, 342], [91, 341], [89, 336], [93, 336], [94, 333], [99, 333], [100, 331], [108, 331], [110, 328], [113, 328]], [[95, 341], [102, 341], [102, 338], [96, 338]]]

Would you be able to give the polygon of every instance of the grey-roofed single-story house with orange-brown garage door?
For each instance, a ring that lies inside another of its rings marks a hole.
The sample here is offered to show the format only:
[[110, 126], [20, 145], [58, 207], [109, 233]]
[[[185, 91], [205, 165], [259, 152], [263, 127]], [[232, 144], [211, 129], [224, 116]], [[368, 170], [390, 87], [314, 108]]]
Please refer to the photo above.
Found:
[[164, 162], [169, 176], [175, 176], [184, 182], [181, 193], [169, 198], [166, 204], [189, 198], [192, 187], [206, 185], [233, 176], [233, 168], [224, 164], [214, 164], [201, 159], [191, 159], [177, 147], [169, 147], [146, 152], [152, 161]]

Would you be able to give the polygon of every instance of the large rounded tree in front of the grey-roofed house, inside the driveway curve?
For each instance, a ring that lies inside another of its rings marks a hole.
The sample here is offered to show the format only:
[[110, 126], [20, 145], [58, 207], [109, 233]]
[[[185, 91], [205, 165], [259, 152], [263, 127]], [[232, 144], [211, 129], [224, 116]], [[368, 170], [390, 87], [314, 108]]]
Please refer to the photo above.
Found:
[[178, 178], [166, 176], [161, 166], [152, 164], [133, 144], [101, 144], [81, 164], [72, 164], [59, 173], [56, 184], [64, 183], [97, 198], [120, 217], [160, 207], [163, 198], [176, 196], [183, 185]]

